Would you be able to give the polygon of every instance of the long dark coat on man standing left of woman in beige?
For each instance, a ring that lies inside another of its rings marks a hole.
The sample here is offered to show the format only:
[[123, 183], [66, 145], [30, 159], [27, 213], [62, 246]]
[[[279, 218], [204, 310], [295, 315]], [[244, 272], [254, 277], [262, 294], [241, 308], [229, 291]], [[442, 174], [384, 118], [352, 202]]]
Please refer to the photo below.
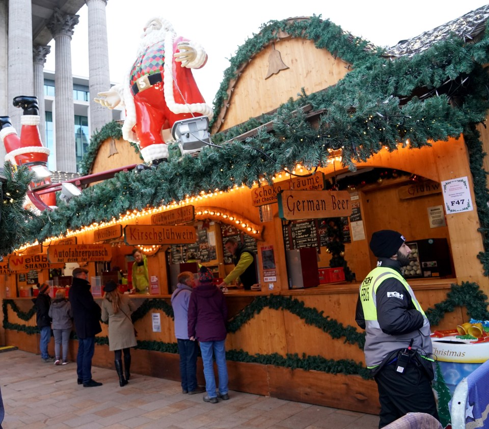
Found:
[[94, 337], [102, 332], [101, 310], [90, 292], [90, 283], [85, 279], [73, 277], [68, 297], [78, 338]]

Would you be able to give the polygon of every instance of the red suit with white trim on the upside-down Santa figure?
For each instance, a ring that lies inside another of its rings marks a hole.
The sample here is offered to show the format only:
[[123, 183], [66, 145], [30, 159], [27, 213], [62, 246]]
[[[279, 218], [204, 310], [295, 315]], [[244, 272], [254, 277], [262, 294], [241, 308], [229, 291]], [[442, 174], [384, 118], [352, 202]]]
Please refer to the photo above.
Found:
[[[39, 133], [39, 115], [22, 115], [20, 117], [20, 137], [12, 126], [6, 126], [0, 130], [0, 141], [5, 145], [7, 155], [5, 160], [13, 165], [26, 165], [29, 169], [34, 166], [43, 166], [47, 170], [47, 157], [49, 149], [44, 147]], [[50, 176], [42, 182], [33, 183], [34, 186], [51, 183]], [[56, 206], [56, 194], [49, 193], [40, 196], [41, 200], [48, 206]]]

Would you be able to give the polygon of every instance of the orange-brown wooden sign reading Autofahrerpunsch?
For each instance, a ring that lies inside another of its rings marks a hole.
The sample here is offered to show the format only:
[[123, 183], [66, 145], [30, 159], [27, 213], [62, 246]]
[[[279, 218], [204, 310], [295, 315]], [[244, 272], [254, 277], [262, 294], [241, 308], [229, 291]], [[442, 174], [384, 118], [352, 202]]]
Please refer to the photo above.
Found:
[[112, 247], [110, 244], [54, 245], [49, 246], [47, 257], [52, 263], [110, 261]]

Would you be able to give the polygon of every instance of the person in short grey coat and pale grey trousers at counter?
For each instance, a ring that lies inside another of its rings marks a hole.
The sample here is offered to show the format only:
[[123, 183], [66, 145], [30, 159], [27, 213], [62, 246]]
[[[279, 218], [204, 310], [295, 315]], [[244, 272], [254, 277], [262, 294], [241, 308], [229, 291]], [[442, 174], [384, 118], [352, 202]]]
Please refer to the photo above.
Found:
[[[52, 332], [55, 336], [55, 365], [66, 365], [73, 313], [71, 304], [66, 299], [65, 289], [56, 291], [56, 298], [49, 308], [49, 316], [52, 318]], [[63, 344], [63, 362], [60, 360], [61, 344]]]

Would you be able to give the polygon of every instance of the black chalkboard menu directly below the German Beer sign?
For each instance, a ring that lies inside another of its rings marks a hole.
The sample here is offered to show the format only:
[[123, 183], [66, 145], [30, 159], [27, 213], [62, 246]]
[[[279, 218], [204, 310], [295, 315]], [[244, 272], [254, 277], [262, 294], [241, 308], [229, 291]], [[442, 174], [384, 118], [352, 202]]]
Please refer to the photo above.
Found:
[[[337, 220], [338, 218], [334, 218]], [[331, 238], [328, 236], [328, 218], [290, 221], [283, 224], [286, 250], [304, 247], [327, 247]], [[339, 228], [343, 232], [343, 243], [350, 243], [348, 218], [339, 218]]]

